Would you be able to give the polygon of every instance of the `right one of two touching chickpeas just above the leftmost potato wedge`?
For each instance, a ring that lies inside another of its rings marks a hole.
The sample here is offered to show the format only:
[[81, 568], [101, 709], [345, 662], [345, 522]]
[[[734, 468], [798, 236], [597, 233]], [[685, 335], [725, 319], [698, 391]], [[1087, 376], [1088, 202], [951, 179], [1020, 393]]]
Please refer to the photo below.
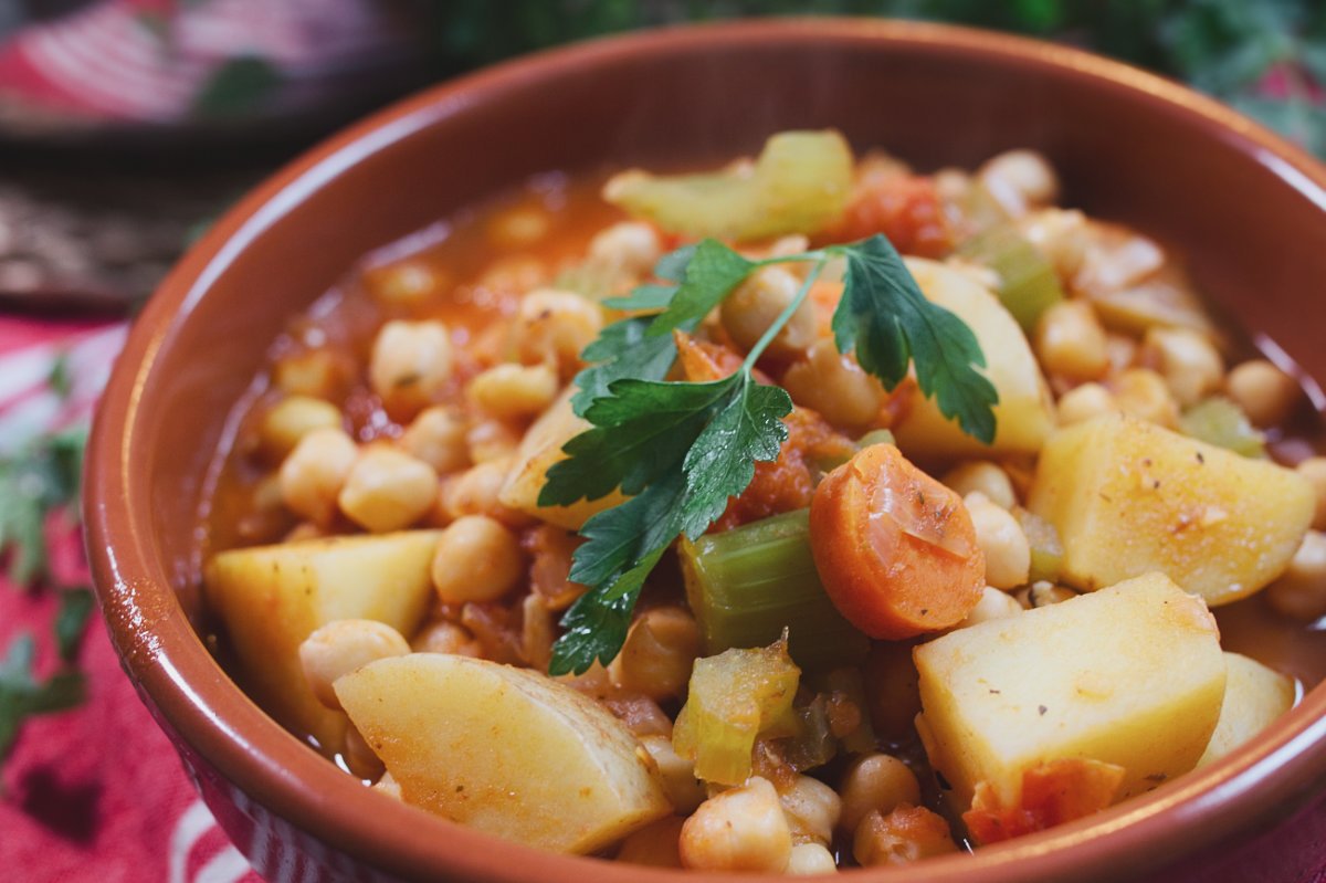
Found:
[[355, 460], [337, 497], [341, 512], [371, 533], [408, 528], [438, 499], [438, 473], [423, 460], [382, 444]]

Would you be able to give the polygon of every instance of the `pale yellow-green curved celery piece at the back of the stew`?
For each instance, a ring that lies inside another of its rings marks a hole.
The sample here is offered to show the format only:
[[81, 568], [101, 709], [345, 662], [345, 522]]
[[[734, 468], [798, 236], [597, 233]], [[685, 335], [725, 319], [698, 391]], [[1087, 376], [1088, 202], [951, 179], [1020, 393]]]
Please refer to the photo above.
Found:
[[751, 241], [815, 233], [838, 220], [851, 190], [851, 148], [833, 130], [785, 131], [753, 167], [695, 175], [614, 176], [603, 198], [668, 232]]

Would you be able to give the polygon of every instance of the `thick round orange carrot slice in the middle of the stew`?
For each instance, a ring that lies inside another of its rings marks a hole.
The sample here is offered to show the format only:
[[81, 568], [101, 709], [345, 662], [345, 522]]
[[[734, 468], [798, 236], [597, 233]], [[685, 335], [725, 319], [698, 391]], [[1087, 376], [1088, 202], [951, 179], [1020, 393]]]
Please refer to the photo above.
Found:
[[834, 606], [871, 638], [955, 626], [985, 585], [961, 499], [891, 444], [862, 449], [819, 484], [810, 549]]

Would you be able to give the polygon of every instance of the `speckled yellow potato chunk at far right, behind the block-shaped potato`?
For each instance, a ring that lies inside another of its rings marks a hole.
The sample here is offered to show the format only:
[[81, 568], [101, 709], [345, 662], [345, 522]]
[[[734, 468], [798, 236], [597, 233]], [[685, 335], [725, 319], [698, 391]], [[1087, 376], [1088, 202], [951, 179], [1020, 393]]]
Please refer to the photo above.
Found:
[[1314, 506], [1292, 469], [1119, 414], [1055, 432], [1028, 502], [1059, 532], [1063, 582], [1091, 590], [1159, 570], [1211, 606], [1278, 577]]

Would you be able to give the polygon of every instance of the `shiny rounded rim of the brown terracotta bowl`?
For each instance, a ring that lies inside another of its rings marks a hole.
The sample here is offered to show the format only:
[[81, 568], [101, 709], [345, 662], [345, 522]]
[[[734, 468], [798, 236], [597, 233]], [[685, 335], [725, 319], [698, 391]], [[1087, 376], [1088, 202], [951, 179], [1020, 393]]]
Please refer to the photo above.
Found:
[[[609, 883], [619, 878], [621, 867], [609, 862], [542, 853], [424, 817], [378, 794], [365, 795], [366, 789], [355, 780], [267, 717], [206, 650], [183, 614], [166, 567], [155, 559], [147, 540], [149, 516], [143, 506], [137, 510], [129, 506], [137, 416], [159, 351], [235, 257], [324, 183], [375, 151], [443, 125], [476, 102], [500, 98], [534, 81], [591, 70], [640, 53], [777, 42], [870, 45], [880, 52], [922, 49], [1089, 81], [1152, 111], [1185, 118], [1266, 166], [1326, 209], [1326, 168], [1211, 98], [1079, 49], [914, 21], [761, 19], [598, 38], [439, 84], [342, 130], [251, 191], [162, 282], [129, 334], [89, 444], [84, 493], [88, 554], [123, 667], [158, 721], [237, 789], [243, 805], [265, 807], [297, 831], [335, 845], [354, 860], [406, 879], [426, 879], [440, 868], [457, 879], [493, 883], [528, 880], [520, 868], [537, 868], [541, 879], [566, 883]], [[862, 880], [887, 874], [898, 883], [920, 879], [965, 883], [975, 872], [985, 874], [981, 879], [987, 883], [1131, 878], [1219, 841], [1264, 830], [1323, 792], [1326, 684], [1220, 762], [1090, 819], [984, 847], [973, 855], [858, 874]], [[251, 810], [251, 814], [260, 813]], [[631, 875], [642, 880], [682, 879], [676, 871], [644, 867], [633, 867]]]

